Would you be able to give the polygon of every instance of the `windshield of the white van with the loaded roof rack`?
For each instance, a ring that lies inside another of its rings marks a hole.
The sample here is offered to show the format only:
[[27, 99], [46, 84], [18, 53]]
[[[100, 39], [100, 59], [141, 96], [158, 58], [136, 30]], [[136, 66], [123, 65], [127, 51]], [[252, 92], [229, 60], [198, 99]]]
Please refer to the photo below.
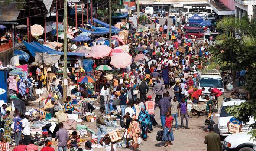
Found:
[[200, 87], [223, 88], [221, 78], [201, 78]]

